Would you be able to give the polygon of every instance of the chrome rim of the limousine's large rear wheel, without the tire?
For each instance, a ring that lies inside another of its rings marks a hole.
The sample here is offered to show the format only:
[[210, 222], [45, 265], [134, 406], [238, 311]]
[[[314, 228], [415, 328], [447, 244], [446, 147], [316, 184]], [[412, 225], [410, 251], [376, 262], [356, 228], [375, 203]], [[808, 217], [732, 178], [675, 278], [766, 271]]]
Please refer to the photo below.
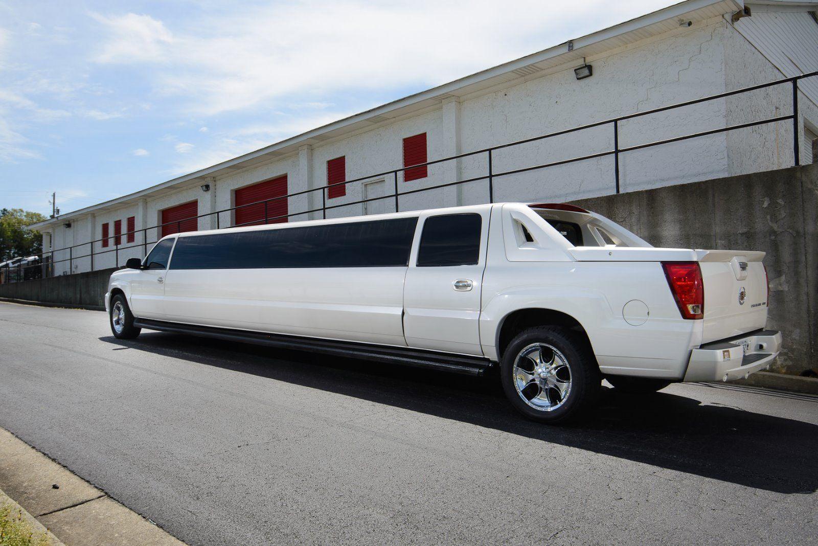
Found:
[[571, 396], [568, 359], [547, 343], [532, 343], [515, 359], [514, 384], [519, 397], [535, 410], [556, 410]]

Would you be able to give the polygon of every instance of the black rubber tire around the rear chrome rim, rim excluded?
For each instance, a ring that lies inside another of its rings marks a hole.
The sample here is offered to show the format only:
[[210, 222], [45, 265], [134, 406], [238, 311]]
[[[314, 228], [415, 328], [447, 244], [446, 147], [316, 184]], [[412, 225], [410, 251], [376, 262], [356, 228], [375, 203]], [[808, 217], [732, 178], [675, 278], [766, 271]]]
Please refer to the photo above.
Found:
[[[571, 394], [563, 406], [553, 411], [535, 410], [522, 401], [514, 385], [514, 362], [524, 347], [535, 342], [548, 343], [562, 352], [571, 370]], [[575, 422], [596, 405], [602, 388], [602, 374], [587, 339], [561, 326], [535, 326], [518, 333], [503, 353], [501, 383], [506, 397], [521, 414], [540, 423]]]

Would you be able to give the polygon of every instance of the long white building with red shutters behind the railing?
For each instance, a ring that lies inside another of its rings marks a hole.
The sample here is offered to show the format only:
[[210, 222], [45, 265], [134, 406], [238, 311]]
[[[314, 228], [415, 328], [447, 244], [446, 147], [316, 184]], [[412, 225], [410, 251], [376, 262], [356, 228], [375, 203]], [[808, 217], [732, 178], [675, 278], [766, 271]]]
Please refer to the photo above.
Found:
[[[748, 8], [748, 9], [747, 9]], [[511, 141], [559, 132], [626, 114], [818, 70], [818, 2], [687, 0], [609, 29], [512, 60], [439, 87], [330, 123], [261, 150], [192, 172], [131, 195], [40, 222], [43, 247], [54, 251], [54, 274], [141, 257], [161, 229], [142, 230], [191, 215], [323, 188], [328, 182], [369, 177], [418, 160], [432, 161]], [[749, 13], [748, 13], [749, 12]], [[578, 66], [592, 75], [578, 79]], [[800, 163], [812, 162], [818, 134], [818, 77], [798, 82]], [[618, 123], [625, 148], [757, 119], [786, 116], [793, 88], [787, 83], [736, 96], [666, 110]], [[407, 140], [408, 139], [408, 140]], [[613, 148], [613, 124], [571, 132], [492, 152], [492, 171], [506, 172]], [[343, 159], [340, 159], [343, 158]], [[818, 158], [816, 158], [818, 159]], [[477, 154], [398, 173], [401, 192], [483, 177], [487, 154]], [[622, 191], [667, 186], [793, 165], [793, 120], [721, 132], [633, 150], [619, 156]], [[425, 175], [425, 176], [424, 176]], [[258, 186], [256, 186], [258, 185]], [[551, 168], [493, 177], [493, 199], [566, 201], [615, 190], [613, 155]], [[203, 186], [208, 190], [203, 190]], [[318, 190], [272, 202], [268, 217], [290, 221], [391, 212], [394, 199], [349, 204], [391, 195], [393, 175], [369, 177], [342, 192]], [[322, 200], [321, 194], [324, 193]], [[339, 195], [339, 194], [344, 195]], [[402, 195], [400, 209], [488, 202], [488, 180]], [[182, 230], [252, 222], [261, 208], [241, 209], [182, 222]], [[192, 213], [192, 214], [191, 214]], [[165, 231], [173, 231], [169, 224]], [[132, 240], [130, 240], [132, 239]], [[74, 245], [70, 262], [68, 250]], [[62, 262], [61, 262], [62, 261]]]

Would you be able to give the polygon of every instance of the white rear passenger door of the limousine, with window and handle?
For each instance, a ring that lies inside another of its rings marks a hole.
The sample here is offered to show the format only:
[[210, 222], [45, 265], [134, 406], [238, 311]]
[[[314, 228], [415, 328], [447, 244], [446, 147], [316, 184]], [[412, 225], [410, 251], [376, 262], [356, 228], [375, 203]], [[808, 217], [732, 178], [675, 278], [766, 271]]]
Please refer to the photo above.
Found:
[[488, 209], [425, 218], [403, 292], [409, 347], [482, 355], [479, 336]]

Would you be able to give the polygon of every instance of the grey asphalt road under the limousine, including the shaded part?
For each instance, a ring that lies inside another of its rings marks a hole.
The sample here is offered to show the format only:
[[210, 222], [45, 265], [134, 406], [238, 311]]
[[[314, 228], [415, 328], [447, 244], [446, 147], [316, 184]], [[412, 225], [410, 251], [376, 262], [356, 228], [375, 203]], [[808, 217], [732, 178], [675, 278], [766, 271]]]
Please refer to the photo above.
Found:
[[606, 389], [579, 427], [497, 378], [0, 303], [0, 426], [189, 544], [818, 542], [818, 398]]

